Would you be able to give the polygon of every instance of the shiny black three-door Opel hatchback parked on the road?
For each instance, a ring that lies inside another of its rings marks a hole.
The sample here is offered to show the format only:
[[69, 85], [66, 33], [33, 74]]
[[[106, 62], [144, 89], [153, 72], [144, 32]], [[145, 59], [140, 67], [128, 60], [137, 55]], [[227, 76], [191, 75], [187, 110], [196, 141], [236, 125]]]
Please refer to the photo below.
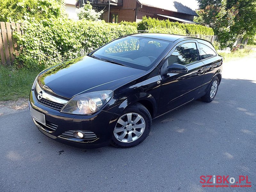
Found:
[[133, 147], [152, 119], [192, 100], [211, 102], [223, 58], [187, 36], [134, 34], [41, 72], [29, 109], [37, 128], [62, 143]]

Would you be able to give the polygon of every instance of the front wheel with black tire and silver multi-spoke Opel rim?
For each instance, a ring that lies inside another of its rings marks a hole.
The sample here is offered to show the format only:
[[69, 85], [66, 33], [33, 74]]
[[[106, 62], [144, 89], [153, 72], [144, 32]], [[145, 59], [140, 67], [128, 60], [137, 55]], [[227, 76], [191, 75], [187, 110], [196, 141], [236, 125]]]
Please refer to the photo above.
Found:
[[140, 103], [132, 104], [117, 120], [110, 143], [118, 148], [134, 147], [148, 137], [151, 125], [148, 109]]

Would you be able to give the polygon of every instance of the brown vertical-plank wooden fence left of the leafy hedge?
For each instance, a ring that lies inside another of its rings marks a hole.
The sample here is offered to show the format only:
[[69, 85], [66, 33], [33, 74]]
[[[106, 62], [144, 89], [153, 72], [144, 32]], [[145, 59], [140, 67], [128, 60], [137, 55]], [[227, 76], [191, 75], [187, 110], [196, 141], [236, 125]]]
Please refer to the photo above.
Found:
[[13, 64], [15, 55], [18, 55], [17, 40], [13, 32], [21, 33], [19, 23], [0, 22], [0, 64], [10, 66]]

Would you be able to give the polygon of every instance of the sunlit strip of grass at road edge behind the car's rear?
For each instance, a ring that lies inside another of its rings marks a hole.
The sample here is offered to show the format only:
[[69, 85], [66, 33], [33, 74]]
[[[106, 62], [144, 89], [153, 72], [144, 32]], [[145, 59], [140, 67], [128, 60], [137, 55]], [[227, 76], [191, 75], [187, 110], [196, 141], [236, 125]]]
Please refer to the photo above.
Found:
[[227, 53], [227, 52], [221, 52], [219, 50], [217, 52], [224, 58], [224, 61], [228, 62], [228, 61], [238, 60], [243, 57], [249, 56], [255, 51], [251, 47], [246, 46], [244, 49], [238, 49], [235, 52]]

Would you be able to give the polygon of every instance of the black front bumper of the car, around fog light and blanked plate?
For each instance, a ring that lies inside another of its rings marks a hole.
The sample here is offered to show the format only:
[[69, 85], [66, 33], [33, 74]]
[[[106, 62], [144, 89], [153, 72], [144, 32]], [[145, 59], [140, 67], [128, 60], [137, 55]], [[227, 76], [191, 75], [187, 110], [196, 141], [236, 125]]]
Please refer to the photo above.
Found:
[[[109, 145], [118, 115], [100, 110], [93, 115], [72, 115], [60, 113], [37, 102], [34, 91], [30, 92], [29, 108], [44, 114], [46, 124], [32, 119], [40, 132], [53, 140], [79, 148], [99, 148]], [[66, 131], [82, 130], [93, 132], [96, 138], [77, 139], [63, 136]]]

